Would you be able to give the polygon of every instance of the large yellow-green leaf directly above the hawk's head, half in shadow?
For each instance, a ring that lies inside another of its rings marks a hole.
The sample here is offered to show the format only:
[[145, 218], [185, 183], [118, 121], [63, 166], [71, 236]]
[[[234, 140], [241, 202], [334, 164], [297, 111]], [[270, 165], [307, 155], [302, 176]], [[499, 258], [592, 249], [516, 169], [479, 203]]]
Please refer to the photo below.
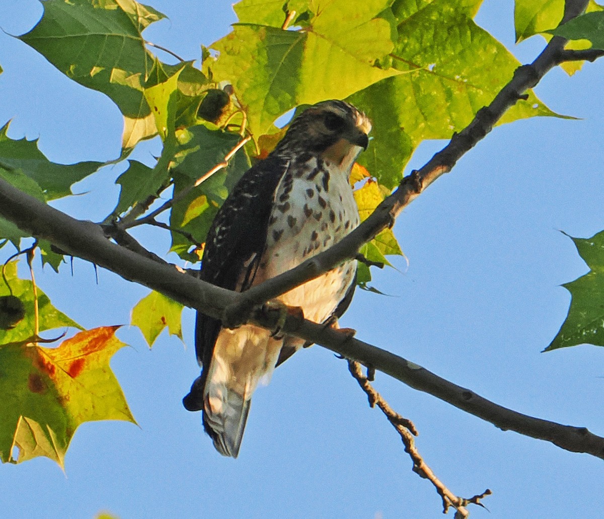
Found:
[[[232, 33], [211, 46], [220, 53], [211, 72], [215, 80], [233, 84], [252, 134], [262, 135], [294, 106], [344, 98], [398, 74], [376, 66], [393, 49], [391, 25], [379, 17], [390, 3], [310, 1], [311, 15], [303, 31], [235, 25]], [[274, 22], [263, 15], [254, 18], [251, 10], [239, 7], [244, 19]]]

